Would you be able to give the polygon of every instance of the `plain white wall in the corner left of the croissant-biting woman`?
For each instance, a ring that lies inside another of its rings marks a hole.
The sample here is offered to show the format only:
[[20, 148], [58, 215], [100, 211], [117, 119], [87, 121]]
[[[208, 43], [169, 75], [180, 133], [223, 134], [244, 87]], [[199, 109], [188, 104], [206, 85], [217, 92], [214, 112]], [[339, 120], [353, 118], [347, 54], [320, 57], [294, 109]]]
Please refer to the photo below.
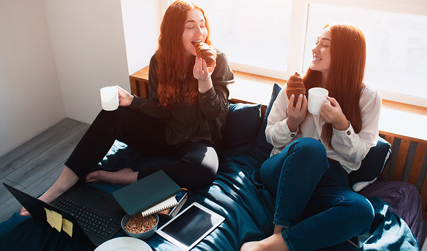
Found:
[[157, 48], [161, 1], [123, 0], [124, 28], [121, 0], [1, 0], [0, 156], [64, 117], [91, 123], [101, 87], [130, 91]]

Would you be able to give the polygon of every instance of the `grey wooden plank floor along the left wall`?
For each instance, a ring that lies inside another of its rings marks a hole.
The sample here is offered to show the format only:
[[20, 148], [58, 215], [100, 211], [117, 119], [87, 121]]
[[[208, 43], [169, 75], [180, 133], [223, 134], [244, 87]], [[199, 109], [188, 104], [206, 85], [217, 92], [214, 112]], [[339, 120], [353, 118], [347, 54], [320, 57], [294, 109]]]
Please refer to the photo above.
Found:
[[64, 163], [89, 125], [65, 118], [22, 146], [0, 157], [0, 222], [21, 209], [3, 186], [39, 196], [58, 178]]

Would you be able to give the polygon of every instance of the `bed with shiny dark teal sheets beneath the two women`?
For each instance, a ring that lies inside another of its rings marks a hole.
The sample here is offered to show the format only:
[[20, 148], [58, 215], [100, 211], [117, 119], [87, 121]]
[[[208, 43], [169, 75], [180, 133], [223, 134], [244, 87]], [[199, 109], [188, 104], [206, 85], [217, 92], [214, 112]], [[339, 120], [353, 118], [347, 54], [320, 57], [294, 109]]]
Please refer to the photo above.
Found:
[[[243, 242], [260, 240], [272, 234], [275, 199], [257, 180], [255, 172], [272, 149], [265, 140], [264, 129], [266, 117], [279, 90], [280, 87], [274, 85], [265, 114], [261, 112], [260, 104], [230, 104], [224, 139], [219, 143], [222, 152], [217, 177], [209, 186], [191, 189], [184, 204], [186, 207], [192, 202], [198, 202], [223, 215], [225, 221], [193, 250], [239, 250]], [[378, 178], [390, 154], [390, 144], [380, 138], [379, 144], [365, 158], [361, 170], [349, 178], [351, 184], [362, 184], [363, 188], [359, 192], [368, 197], [375, 208], [372, 236], [363, 248], [343, 242], [322, 250], [419, 250], [418, 241], [422, 231], [419, 192], [416, 189], [415, 192], [408, 183]], [[123, 167], [132, 168], [161, 161], [167, 160], [144, 158], [116, 141], [97, 168], [116, 171]], [[123, 187], [112, 184], [89, 185], [109, 193]], [[408, 200], [409, 204], [406, 203]], [[159, 225], [167, 220], [160, 216]], [[117, 236], [125, 236], [125, 233], [121, 231]], [[158, 234], [146, 242], [153, 250], [180, 250]], [[20, 216], [18, 212], [0, 223], [0, 246], [2, 250], [94, 249], [32, 217]]]

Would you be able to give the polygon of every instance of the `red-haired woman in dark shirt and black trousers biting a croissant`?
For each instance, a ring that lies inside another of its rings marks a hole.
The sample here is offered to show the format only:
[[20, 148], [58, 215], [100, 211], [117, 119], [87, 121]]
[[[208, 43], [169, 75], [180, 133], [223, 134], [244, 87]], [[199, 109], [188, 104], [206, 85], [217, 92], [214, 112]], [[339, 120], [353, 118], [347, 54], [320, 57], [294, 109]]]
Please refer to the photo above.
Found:
[[[215, 143], [222, 139], [229, 107], [227, 85], [234, 82], [234, 74], [218, 50], [216, 63], [207, 67], [196, 57], [196, 42], [211, 44], [203, 10], [190, 2], [173, 2], [150, 61], [150, 98], [116, 86], [119, 108], [98, 114], [41, 200], [51, 202], [78, 180], [130, 184], [158, 170], [186, 188], [213, 180], [219, 164]], [[93, 171], [115, 140], [145, 156], [171, 161], [135, 170]], [[29, 215], [25, 208], [21, 214]]]

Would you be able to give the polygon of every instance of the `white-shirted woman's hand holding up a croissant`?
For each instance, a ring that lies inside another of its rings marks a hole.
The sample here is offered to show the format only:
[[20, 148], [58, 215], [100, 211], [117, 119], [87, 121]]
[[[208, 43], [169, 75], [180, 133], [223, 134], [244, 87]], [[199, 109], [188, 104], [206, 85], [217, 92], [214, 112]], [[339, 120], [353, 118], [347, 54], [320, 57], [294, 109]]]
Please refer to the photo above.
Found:
[[286, 123], [288, 125], [289, 131], [295, 132], [299, 127], [299, 124], [304, 120], [305, 114], [307, 113], [307, 98], [305, 95], [299, 94], [297, 97], [298, 101], [296, 101], [295, 107], [293, 107], [293, 100], [295, 99], [295, 95], [292, 94], [289, 98], [287, 112], [288, 118], [286, 119]]

